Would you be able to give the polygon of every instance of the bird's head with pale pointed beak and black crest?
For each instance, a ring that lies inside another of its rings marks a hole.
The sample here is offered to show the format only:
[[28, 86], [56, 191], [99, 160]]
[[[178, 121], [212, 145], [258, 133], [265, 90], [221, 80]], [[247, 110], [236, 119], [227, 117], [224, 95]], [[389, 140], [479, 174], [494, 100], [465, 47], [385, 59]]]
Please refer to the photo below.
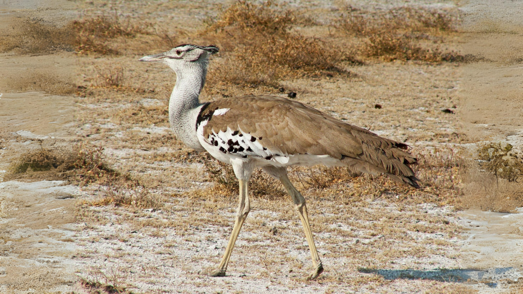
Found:
[[175, 72], [184, 69], [184, 67], [192, 67], [195, 63], [204, 64], [207, 66], [209, 55], [219, 51], [216, 46], [196, 46], [191, 44], [183, 44], [175, 47], [169, 51], [147, 55], [140, 58], [138, 61], [158, 61], [169, 65]]

